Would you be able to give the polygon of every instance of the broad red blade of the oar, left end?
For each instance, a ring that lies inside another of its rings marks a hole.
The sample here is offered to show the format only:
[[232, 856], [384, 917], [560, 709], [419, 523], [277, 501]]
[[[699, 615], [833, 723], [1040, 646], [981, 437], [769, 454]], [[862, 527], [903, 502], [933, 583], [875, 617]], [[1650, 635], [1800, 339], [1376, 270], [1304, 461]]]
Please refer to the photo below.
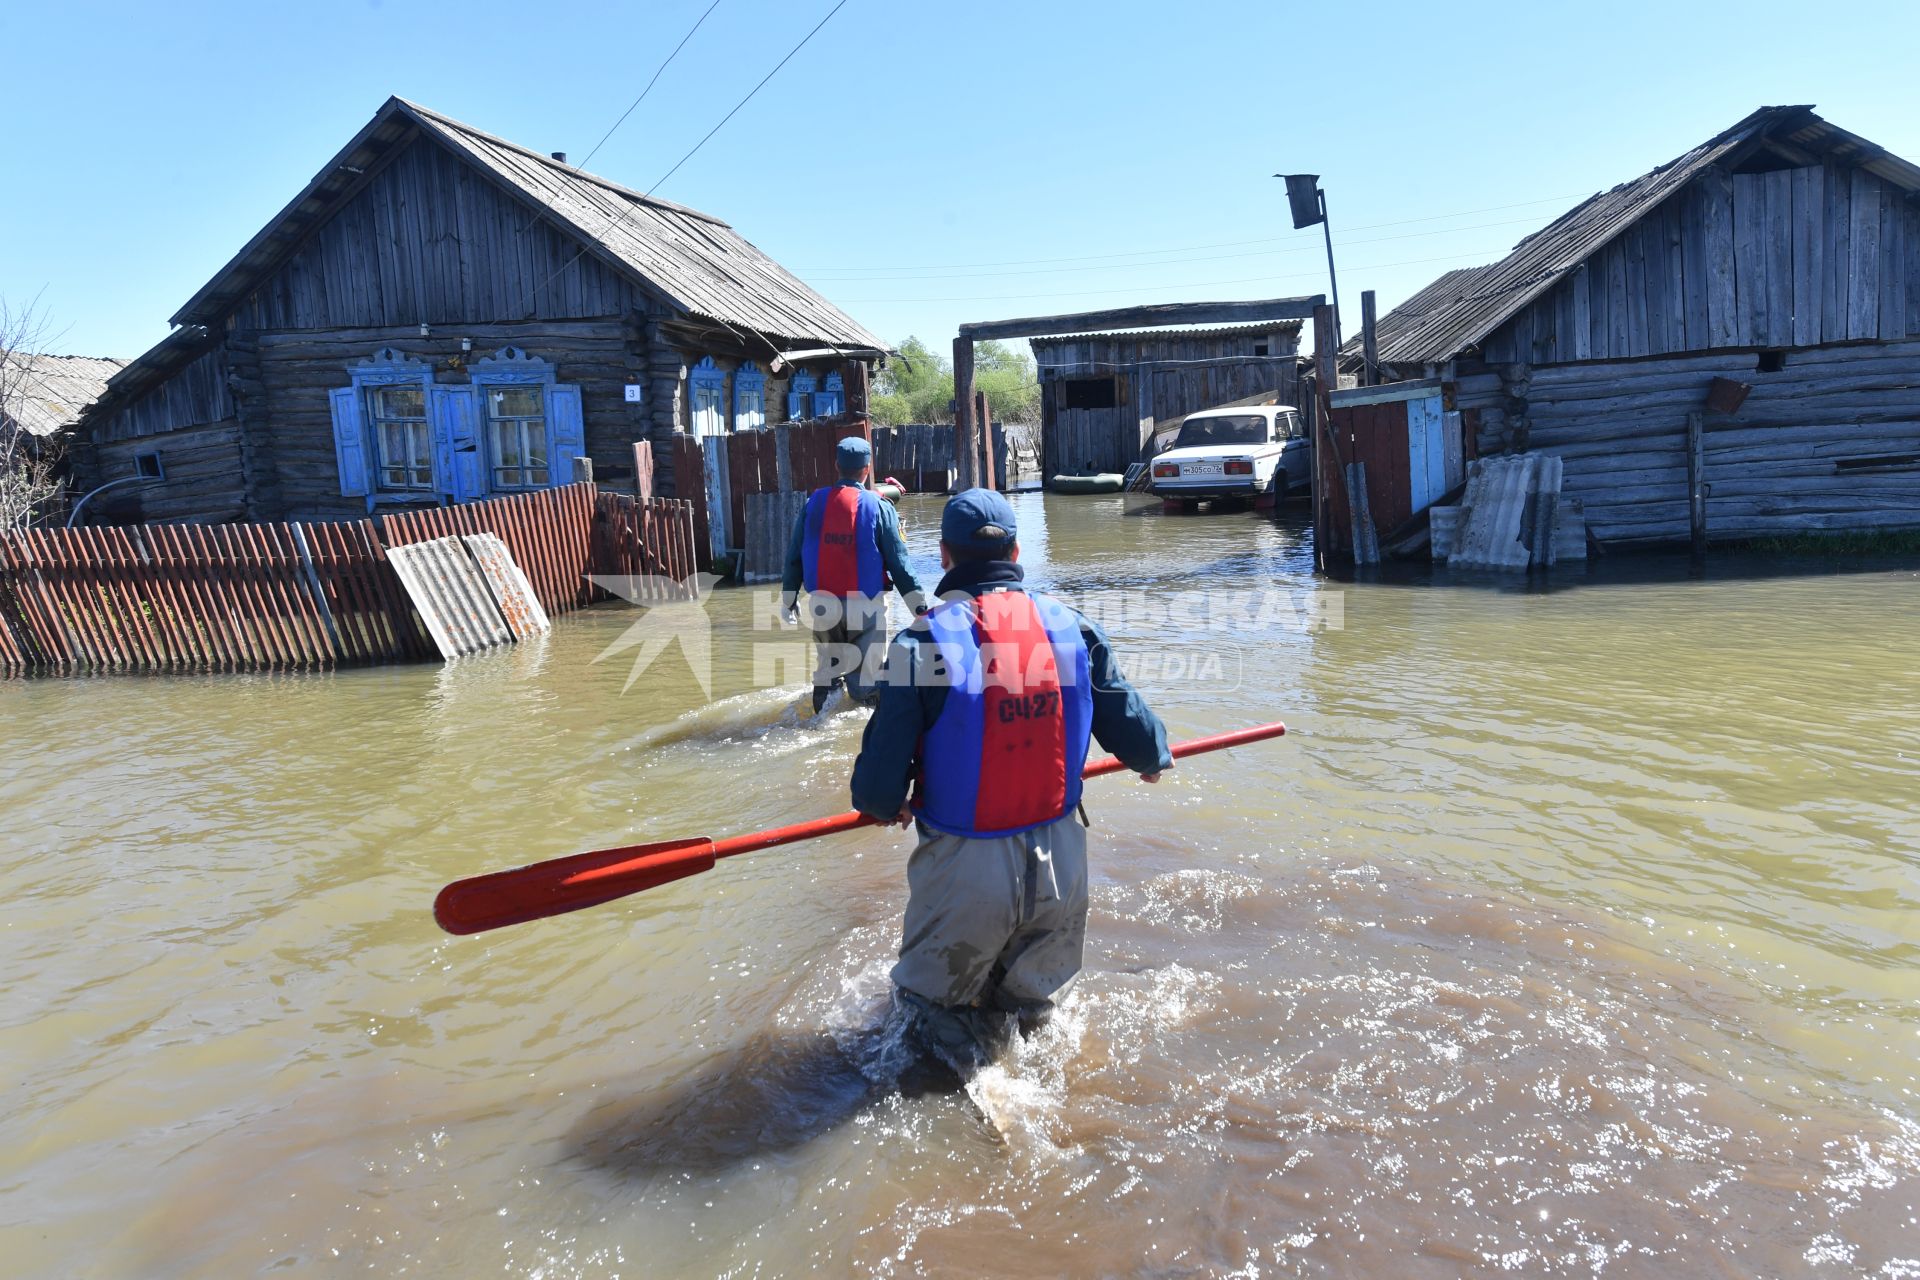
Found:
[[453, 881], [434, 898], [434, 919], [447, 933], [484, 933], [599, 906], [712, 869], [714, 842], [707, 837], [601, 848]]

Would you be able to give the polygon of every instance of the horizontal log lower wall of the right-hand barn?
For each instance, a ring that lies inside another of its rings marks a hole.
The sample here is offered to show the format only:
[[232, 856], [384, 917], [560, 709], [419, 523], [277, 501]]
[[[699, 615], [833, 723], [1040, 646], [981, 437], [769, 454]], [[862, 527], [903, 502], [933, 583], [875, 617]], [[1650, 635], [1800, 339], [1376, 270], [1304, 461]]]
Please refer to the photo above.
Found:
[[1709, 539], [1920, 528], [1920, 342], [1789, 351], [1778, 372], [1757, 363], [1561, 365], [1507, 390], [1524, 447], [1565, 459], [1563, 491], [1586, 501], [1603, 543], [1688, 539], [1686, 418], [1715, 376], [1753, 390], [1738, 413], [1705, 416]]

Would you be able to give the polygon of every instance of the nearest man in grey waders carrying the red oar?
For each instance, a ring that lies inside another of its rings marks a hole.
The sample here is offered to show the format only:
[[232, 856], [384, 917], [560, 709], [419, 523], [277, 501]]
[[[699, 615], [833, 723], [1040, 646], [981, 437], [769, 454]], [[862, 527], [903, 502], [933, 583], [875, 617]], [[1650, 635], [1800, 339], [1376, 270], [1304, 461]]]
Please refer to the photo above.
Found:
[[895, 641], [852, 766], [856, 810], [916, 823], [895, 996], [962, 1073], [1046, 1021], [1081, 969], [1089, 739], [1148, 783], [1173, 766], [1100, 628], [1025, 591], [1016, 535], [998, 493], [947, 503], [941, 603]]

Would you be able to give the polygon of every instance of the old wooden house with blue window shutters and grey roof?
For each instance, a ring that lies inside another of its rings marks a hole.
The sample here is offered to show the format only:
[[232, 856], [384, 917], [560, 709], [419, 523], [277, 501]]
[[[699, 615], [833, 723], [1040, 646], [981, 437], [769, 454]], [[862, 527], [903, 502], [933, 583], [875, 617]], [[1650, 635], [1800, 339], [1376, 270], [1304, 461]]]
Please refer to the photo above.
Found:
[[637, 439], [845, 413], [883, 345], [720, 219], [399, 98], [173, 324], [79, 434], [77, 484], [165, 476], [117, 518], [630, 480]]

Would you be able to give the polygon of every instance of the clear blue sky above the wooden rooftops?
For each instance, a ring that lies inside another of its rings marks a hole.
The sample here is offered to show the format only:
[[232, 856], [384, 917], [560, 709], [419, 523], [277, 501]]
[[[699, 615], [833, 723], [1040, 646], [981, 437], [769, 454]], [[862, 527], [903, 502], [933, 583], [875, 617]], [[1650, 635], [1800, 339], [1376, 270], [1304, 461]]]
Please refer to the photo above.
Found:
[[[401, 94], [578, 161], [708, 0], [12, 4], [0, 297], [136, 355]], [[591, 169], [651, 186], [831, 8], [720, 0]], [[847, 6], [662, 188], [868, 328], [1325, 288], [1350, 324], [1763, 104], [1920, 157], [1920, 6]], [[1440, 217], [1452, 215], [1452, 217]], [[1200, 248], [1206, 246], [1206, 248]]]

